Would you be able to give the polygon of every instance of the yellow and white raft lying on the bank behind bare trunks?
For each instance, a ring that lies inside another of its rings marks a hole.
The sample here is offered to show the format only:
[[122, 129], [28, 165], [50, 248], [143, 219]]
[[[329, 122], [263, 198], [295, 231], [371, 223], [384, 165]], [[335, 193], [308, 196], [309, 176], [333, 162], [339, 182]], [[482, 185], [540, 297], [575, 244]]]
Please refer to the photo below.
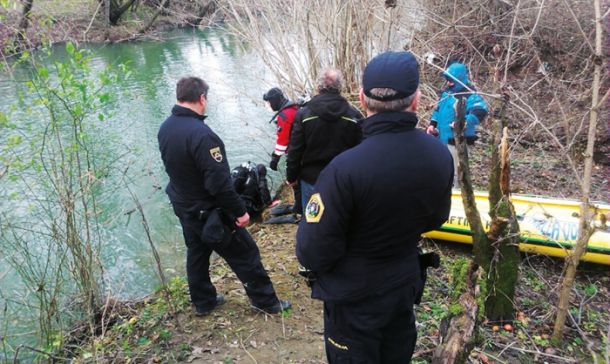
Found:
[[[477, 207], [485, 228], [489, 227], [489, 201], [486, 192], [475, 193]], [[580, 202], [572, 200], [551, 199], [512, 195], [513, 205], [521, 229], [519, 249], [523, 252], [545, 254], [554, 257], [565, 257], [572, 249], [578, 237], [578, 216]], [[610, 213], [610, 205], [593, 203], [600, 214]], [[451, 200], [449, 219], [438, 230], [425, 233], [432, 239], [455, 241], [472, 244], [470, 226], [464, 213], [460, 191], [454, 190]], [[610, 229], [596, 231], [587, 247], [582, 260], [610, 265]]]

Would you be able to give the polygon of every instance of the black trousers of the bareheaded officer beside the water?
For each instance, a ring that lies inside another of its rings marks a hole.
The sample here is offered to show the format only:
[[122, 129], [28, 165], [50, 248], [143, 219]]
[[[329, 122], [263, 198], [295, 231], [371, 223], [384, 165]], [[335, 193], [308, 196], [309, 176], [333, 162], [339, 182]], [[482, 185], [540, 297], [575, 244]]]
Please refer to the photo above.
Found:
[[228, 242], [210, 247], [201, 239], [203, 221], [185, 216], [174, 207], [180, 219], [186, 243], [186, 274], [191, 302], [202, 309], [215, 304], [216, 288], [210, 281], [210, 255], [215, 251], [229, 264], [244, 285], [250, 303], [256, 307], [268, 307], [278, 302], [269, 275], [261, 263], [256, 242], [248, 231], [238, 228]]

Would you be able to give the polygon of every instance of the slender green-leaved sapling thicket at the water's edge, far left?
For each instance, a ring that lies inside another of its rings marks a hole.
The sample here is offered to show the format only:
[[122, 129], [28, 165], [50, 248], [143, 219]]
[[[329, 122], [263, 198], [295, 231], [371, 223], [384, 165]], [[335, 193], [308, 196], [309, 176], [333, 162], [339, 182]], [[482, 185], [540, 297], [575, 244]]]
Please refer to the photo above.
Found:
[[[0, 175], [8, 173], [2, 192], [19, 207], [1, 206], [0, 228], [12, 233], [0, 249], [11, 251], [24, 292], [34, 293], [28, 304], [38, 310], [39, 347], [50, 353], [60, 350], [66, 317], [95, 327], [104, 228], [98, 209], [113, 187], [102, 176], [118, 162], [100, 120], [109, 119], [113, 101], [104, 87], [121, 75], [98, 74], [86, 51], [72, 43], [65, 48], [68, 58], [51, 66], [39, 62], [50, 49], [21, 53], [13, 66], [28, 78], [18, 83], [18, 104], [0, 113]], [[75, 311], [63, 315], [57, 306], [67, 300]]]

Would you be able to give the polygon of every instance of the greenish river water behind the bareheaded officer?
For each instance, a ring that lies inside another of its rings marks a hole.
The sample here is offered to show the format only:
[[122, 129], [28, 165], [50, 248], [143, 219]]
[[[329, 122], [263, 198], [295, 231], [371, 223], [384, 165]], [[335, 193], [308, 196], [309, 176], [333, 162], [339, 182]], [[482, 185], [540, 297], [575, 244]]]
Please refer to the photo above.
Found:
[[[184, 75], [196, 75], [210, 85], [206, 122], [224, 140], [231, 167], [245, 161], [268, 162], [275, 130], [268, 123], [272, 112], [266, 109], [262, 94], [274, 85], [262, 61], [222, 29], [175, 30], [163, 38], [158, 42], [88, 45], [87, 49], [94, 69], [127, 63], [131, 71], [130, 77], [110, 86], [116, 99], [106, 110], [113, 115], [108, 127], [116, 128], [120, 138], [113, 145], [129, 146], [118, 168], [129, 167], [131, 188], [143, 205], [163, 267], [171, 276], [184, 273], [185, 249], [179, 223], [163, 191], [167, 176], [156, 135], [174, 104], [176, 81]], [[66, 57], [64, 46], [58, 45], [43, 62], [50, 65]], [[14, 78], [19, 79], [19, 75], [17, 69]], [[16, 95], [22, 86], [6, 81], [11, 79], [9, 75], [1, 76], [5, 81], [0, 82], [0, 110], [11, 115], [17, 125], [31, 123], [27, 112], [12, 109], [19, 104]], [[280, 175], [270, 172], [272, 187], [277, 186]], [[149, 294], [159, 281], [140, 216], [129, 213], [135, 203], [127, 191], [116, 191], [113, 199], [112, 211], [104, 212], [113, 218], [102, 246], [108, 289], [122, 298]], [[6, 201], [0, 206], [12, 208]], [[0, 309], [6, 307], [0, 314], [4, 321], [0, 335], [2, 331], [33, 334], [36, 328], [28, 319], [31, 308], [25, 302], [30, 293], [24, 292], [25, 285], [8, 263], [10, 254], [0, 252]], [[21, 341], [19, 337], [13, 343]]]

